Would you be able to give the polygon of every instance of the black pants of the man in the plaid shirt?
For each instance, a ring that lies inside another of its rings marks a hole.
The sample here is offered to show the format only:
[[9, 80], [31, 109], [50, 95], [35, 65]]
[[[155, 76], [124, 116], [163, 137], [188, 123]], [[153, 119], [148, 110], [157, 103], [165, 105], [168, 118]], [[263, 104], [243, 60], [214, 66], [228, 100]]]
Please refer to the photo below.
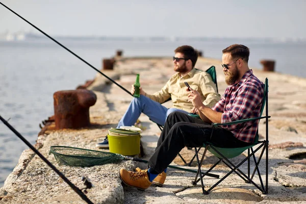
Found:
[[232, 132], [215, 127], [201, 119], [191, 117], [181, 112], [171, 113], [157, 142], [154, 154], [148, 161], [148, 166], [154, 172], [163, 172], [185, 147], [201, 147], [204, 142], [211, 142], [218, 147], [242, 147], [250, 143], [238, 140]]

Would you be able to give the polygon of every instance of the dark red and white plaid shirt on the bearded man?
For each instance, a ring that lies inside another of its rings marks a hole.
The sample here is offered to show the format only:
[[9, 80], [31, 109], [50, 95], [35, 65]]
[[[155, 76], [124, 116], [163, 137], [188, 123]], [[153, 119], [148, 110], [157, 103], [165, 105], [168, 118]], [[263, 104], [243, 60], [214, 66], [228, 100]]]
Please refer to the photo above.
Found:
[[[250, 69], [239, 82], [228, 86], [219, 100], [212, 108], [221, 112], [221, 123], [233, 122], [260, 116], [261, 103], [264, 97], [264, 84], [255, 77]], [[222, 125], [231, 131], [235, 137], [244, 142], [253, 142], [258, 129], [259, 120], [244, 123]]]

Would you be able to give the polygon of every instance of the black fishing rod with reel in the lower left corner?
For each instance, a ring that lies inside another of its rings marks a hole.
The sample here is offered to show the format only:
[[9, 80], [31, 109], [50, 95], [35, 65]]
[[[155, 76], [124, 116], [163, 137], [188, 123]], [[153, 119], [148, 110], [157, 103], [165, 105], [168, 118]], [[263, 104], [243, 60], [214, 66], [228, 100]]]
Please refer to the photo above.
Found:
[[17, 137], [19, 137], [25, 144], [27, 144], [40, 157], [40, 159], [42, 159], [49, 167], [51, 167], [62, 178], [62, 180], [64, 180], [76, 193], [78, 193], [83, 200], [85, 200], [89, 204], [93, 204], [93, 202], [78, 187], [72, 184], [64, 174], [62, 174], [52, 163], [50, 163], [42, 154], [40, 154], [40, 152], [37, 149], [35, 149], [34, 146], [32, 146], [30, 142], [28, 142], [28, 140], [22, 137], [22, 135], [18, 133], [16, 129], [14, 129], [14, 127], [10, 123], [8, 123], [8, 121], [6, 121], [1, 115], [0, 115], [0, 120], [2, 120], [2, 122], [6, 126], [8, 126], [9, 129], [13, 133], [15, 133], [15, 135], [17, 135]]

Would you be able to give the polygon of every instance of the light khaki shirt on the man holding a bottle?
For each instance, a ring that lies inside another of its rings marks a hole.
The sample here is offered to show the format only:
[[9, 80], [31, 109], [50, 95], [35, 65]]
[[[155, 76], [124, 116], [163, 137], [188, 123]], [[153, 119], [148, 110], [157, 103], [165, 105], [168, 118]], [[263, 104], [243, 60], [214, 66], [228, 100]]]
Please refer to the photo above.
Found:
[[192, 89], [197, 90], [201, 95], [203, 104], [210, 108], [221, 99], [211, 75], [206, 71], [196, 68], [193, 68], [183, 78], [180, 77], [180, 73], [173, 74], [162, 90], [154, 94], [146, 94], [145, 96], [160, 104], [171, 97], [172, 108], [190, 112], [193, 105], [191, 102], [187, 102], [188, 92], [184, 82], [187, 82]]

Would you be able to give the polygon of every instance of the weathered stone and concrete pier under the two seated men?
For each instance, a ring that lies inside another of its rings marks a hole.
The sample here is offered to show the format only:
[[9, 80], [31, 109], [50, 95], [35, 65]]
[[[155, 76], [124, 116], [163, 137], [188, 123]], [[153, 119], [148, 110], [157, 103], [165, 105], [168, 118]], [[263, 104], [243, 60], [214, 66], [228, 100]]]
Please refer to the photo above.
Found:
[[[209, 58], [199, 58], [196, 68], [206, 70], [216, 66], [219, 93], [222, 95], [226, 84], [221, 62]], [[102, 70], [104, 72], [104, 70]], [[174, 73], [171, 58], [124, 58], [116, 59], [113, 70], [105, 70], [110, 78], [116, 80], [127, 90], [140, 73], [141, 87], [148, 93], [160, 90]], [[86, 194], [94, 203], [306, 203], [306, 79], [292, 77], [277, 72], [265, 72], [253, 69], [254, 74], [264, 82], [269, 79], [269, 194], [264, 195], [252, 185], [244, 183], [236, 174], [232, 174], [219, 184], [209, 195], [203, 195], [201, 186], [192, 186], [194, 173], [168, 169], [163, 187], [152, 185], [146, 191], [121, 185], [117, 176], [120, 168], [135, 170], [146, 168], [146, 164], [121, 161], [94, 167], [60, 166], [53, 155], [49, 155], [50, 146], [64, 145], [94, 150], [97, 142], [103, 141], [108, 129], [116, 127], [119, 119], [130, 104], [132, 96], [121, 90], [102, 75], [97, 74], [87, 89], [93, 90], [97, 100], [89, 108], [90, 126], [82, 129], [55, 130], [55, 123], [48, 127], [37, 139], [36, 148], [52, 162], [67, 178], [80, 189], [85, 186], [82, 176], [87, 176], [94, 188]], [[171, 107], [171, 101], [164, 104]], [[46, 116], [47, 117], [47, 116]], [[157, 144], [160, 135], [158, 126], [147, 116], [140, 116], [143, 130], [141, 141], [145, 158], [148, 159]], [[264, 121], [260, 123], [260, 135], [265, 135]], [[193, 150], [187, 148], [181, 152], [184, 158], [190, 158]], [[296, 155], [300, 155], [298, 157]], [[294, 157], [296, 156], [296, 157]], [[214, 162], [212, 157], [205, 160], [202, 169], [208, 169]], [[239, 158], [232, 159], [238, 162]], [[266, 160], [265, 156], [262, 159]], [[263, 162], [262, 161], [262, 162]], [[181, 165], [176, 158], [171, 165]], [[262, 173], [265, 170], [261, 164]], [[196, 169], [195, 166], [184, 167]], [[213, 173], [225, 175], [227, 167], [221, 165]], [[246, 165], [242, 166], [246, 169]], [[256, 179], [258, 180], [258, 179]], [[207, 187], [217, 180], [207, 177], [203, 180]], [[0, 203], [85, 203], [60, 177], [50, 169], [30, 149], [24, 150], [19, 163], [8, 176], [0, 189]]]

